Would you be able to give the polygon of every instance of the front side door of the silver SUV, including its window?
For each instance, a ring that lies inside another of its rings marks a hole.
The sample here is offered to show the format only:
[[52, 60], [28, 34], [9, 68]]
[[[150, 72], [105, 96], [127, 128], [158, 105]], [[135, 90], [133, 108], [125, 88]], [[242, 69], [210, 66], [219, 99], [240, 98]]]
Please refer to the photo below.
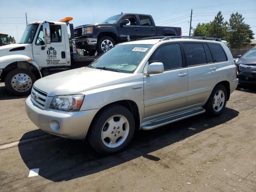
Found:
[[186, 105], [188, 70], [179, 43], [164, 44], [148, 60], [162, 62], [164, 72], [144, 76], [144, 118], [147, 120], [175, 113]]

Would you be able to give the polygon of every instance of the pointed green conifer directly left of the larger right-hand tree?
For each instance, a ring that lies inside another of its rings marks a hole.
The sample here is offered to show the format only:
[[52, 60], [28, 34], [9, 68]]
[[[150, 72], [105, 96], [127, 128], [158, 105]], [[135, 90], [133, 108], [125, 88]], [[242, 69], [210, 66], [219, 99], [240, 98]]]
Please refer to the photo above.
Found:
[[219, 11], [214, 20], [210, 22], [208, 33], [210, 37], [226, 39], [228, 34], [228, 22], [224, 21], [221, 11]]

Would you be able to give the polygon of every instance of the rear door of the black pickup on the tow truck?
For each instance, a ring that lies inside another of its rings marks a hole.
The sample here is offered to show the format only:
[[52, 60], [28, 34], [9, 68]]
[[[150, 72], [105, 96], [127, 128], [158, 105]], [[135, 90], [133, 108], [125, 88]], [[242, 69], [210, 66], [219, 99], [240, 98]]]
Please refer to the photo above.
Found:
[[156, 26], [149, 16], [138, 15], [140, 20], [140, 37], [152, 37], [156, 36]]

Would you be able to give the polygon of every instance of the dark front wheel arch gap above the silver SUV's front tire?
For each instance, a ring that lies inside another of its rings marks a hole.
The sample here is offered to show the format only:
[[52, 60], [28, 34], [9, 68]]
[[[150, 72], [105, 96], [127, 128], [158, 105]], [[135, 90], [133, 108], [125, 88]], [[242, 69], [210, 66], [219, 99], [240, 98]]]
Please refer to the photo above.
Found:
[[[140, 113], [138, 110], [138, 105], [136, 104], [136, 102], [132, 101], [132, 100], [119, 100], [116, 102], [112, 102], [109, 104], [106, 104], [105, 106], [103, 106], [100, 110], [98, 110], [98, 112], [95, 114], [93, 120], [96, 118], [96, 116], [105, 108], [110, 107], [112, 105], [121, 105], [124, 106], [125, 108], [127, 108], [132, 115], [134, 116], [134, 120], [135, 120], [135, 131], [140, 130]], [[91, 124], [92, 124], [91, 122]], [[89, 128], [90, 129], [90, 128]]]

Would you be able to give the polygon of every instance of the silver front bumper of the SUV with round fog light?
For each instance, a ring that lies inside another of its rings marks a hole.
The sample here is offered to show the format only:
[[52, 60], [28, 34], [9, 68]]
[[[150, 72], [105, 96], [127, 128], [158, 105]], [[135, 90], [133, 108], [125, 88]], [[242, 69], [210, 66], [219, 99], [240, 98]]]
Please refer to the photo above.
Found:
[[26, 114], [41, 130], [70, 139], [84, 139], [98, 109], [66, 112], [54, 109], [42, 110], [30, 99], [25, 102]]

